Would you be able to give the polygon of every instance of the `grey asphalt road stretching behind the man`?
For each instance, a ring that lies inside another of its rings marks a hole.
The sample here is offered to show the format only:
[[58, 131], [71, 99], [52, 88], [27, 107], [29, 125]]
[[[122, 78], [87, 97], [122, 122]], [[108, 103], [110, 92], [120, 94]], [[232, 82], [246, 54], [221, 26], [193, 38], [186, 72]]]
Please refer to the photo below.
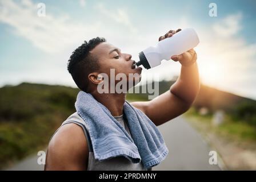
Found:
[[[209, 164], [211, 149], [185, 118], [175, 118], [159, 126], [159, 130], [169, 154], [153, 170], [220, 170], [218, 165]], [[38, 165], [37, 159], [37, 154], [29, 156], [6, 170], [43, 170], [44, 166]]]

